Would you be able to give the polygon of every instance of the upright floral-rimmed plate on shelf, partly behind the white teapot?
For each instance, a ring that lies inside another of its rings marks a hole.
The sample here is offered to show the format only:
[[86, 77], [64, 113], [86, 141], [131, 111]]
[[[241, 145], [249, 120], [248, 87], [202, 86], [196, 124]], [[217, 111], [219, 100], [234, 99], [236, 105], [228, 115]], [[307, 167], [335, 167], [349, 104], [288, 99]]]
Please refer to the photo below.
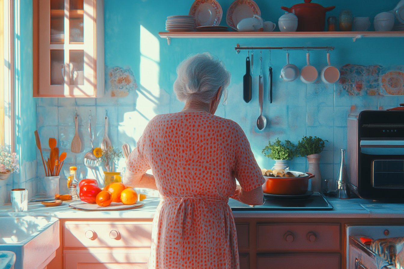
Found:
[[236, 0], [227, 9], [226, 23], [234, 30], [242, 19], [251, 18], [254, 15], [261, 17], [261, 10], [252, 0]]

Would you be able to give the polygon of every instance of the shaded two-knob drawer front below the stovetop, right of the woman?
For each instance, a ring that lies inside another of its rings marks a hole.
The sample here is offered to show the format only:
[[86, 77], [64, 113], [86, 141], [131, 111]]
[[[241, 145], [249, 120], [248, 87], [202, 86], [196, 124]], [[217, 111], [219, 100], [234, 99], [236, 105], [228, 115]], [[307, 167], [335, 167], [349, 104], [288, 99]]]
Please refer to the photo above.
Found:
[[258, 250], [340, 250], [340, 224], [257, 225]]

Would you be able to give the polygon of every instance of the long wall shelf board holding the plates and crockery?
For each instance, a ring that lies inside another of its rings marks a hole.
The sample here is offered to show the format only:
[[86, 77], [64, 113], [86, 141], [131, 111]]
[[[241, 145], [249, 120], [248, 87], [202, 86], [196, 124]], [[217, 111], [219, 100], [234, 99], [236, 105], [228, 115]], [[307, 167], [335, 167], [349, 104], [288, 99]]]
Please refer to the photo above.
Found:
[[389, 32], [159, 32], [161, 38], [404, 38], [404, 31]]

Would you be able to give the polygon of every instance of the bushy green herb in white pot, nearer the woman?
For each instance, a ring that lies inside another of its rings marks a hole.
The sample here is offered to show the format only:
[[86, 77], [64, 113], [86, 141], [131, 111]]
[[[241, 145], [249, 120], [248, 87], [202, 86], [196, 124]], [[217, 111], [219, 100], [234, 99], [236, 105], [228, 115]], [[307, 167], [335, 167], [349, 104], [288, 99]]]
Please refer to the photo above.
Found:
[[271, 158], [275, 161], [274, 169], [289, 169], [288, 161], [297, 157], [295, 144], [290, 142], [289, 140], [285, 140], [282, 143], [279, 138], [276, 138], [274, 143], [271, 143], [271, 140], [268, 142], [268, 146], [262, 150], [264, 156]]

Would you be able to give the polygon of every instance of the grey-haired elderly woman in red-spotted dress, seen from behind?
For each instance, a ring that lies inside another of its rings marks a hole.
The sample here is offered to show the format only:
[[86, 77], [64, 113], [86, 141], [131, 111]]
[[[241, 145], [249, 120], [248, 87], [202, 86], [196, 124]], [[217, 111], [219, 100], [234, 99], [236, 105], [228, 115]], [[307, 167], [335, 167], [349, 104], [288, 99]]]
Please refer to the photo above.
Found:
[[[177, 73], [174, 91], [183, 110], [147, 124], [124, 178], [162, 196], [149, 268], [236, 269], [236, 226], [227, 202], [263, 204], [265, 180], [241, 127], [214, 115], [230, 80], [223, 63], [197, 54]], [[150, 168], [153, 175], [145, 173]]]

